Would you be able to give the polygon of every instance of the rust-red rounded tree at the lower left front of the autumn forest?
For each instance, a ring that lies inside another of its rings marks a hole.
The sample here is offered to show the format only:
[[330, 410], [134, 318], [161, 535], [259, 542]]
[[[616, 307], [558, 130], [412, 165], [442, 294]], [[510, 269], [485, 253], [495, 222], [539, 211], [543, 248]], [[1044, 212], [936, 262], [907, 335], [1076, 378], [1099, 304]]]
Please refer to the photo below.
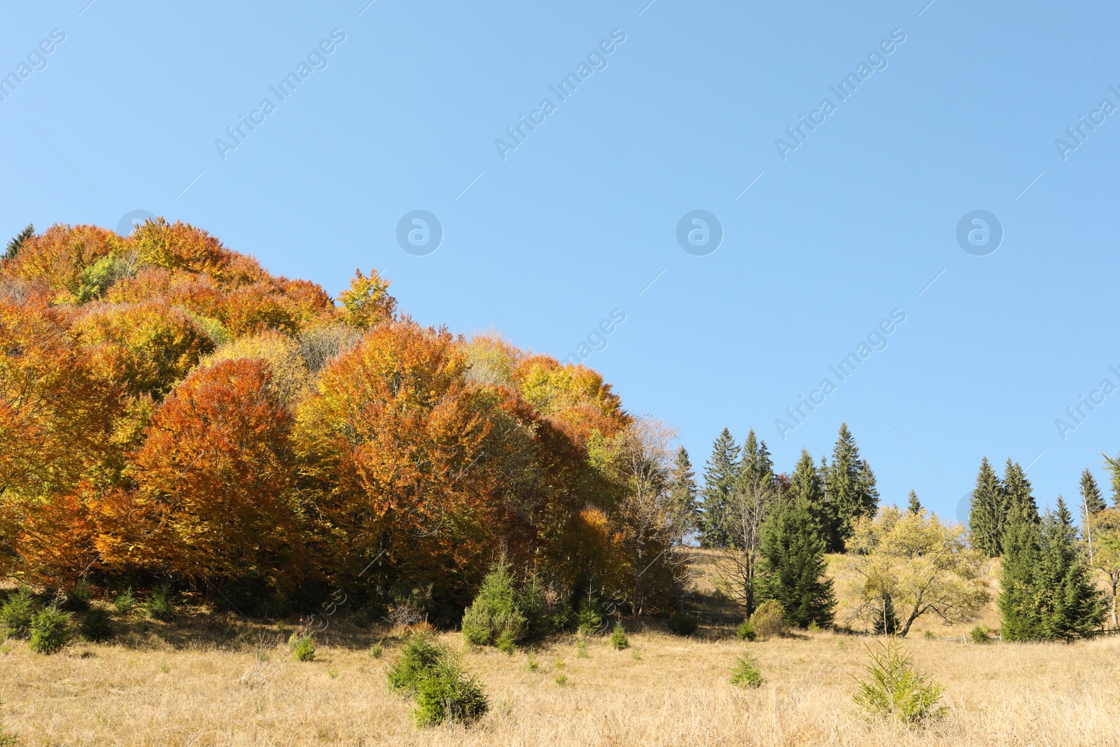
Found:
[[133, 460], [134, 491], [106, 503], [105, 561], [204, 588], [295, 587], [290, 427], [267, 362], [196, 370], [156, 410]]

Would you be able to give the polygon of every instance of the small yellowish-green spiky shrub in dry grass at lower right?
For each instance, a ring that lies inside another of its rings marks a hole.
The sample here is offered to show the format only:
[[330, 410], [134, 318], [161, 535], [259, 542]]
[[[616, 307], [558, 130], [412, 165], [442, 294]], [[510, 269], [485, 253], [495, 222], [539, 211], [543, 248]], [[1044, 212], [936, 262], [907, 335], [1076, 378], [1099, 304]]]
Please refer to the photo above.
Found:
[[897, 719], [903, 723], [917, 723], [944, 713], [937, 706], [943, 688], [920, 673], [909, 654], [897, 641], [879, 644], [879, 651], [868, 648], [869, 679], [859, 681], [856, 703], [872, 716]]

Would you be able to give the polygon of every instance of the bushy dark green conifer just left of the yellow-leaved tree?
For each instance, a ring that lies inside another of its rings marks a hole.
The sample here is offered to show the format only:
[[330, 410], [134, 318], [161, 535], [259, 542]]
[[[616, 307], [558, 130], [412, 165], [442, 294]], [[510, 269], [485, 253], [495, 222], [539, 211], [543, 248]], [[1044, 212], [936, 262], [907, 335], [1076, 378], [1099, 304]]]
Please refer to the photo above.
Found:
[[814, 523], [804, 498], [783, 501], [763, 525], [759, 552], [759, 600], [777, 600], [785, 620], [802, 628], [812, 623], [831, 625], [836, 609], [832, 579], [824, 575], [824, 542]]

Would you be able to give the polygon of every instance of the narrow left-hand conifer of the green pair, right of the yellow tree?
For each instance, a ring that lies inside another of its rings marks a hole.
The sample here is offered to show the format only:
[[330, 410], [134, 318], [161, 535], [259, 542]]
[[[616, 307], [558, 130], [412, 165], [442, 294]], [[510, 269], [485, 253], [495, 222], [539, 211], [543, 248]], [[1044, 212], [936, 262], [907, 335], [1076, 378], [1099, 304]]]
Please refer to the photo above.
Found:
[[[981, 467], [982, 469], [982, 467]], [[1037, 571], [1042, 562], [1038, 514], [1015, 508], [1007, 513], [1002, 531], [998, 599], [1000, 635], [1005, 641], [1037, 641], [1042, 637]]]

